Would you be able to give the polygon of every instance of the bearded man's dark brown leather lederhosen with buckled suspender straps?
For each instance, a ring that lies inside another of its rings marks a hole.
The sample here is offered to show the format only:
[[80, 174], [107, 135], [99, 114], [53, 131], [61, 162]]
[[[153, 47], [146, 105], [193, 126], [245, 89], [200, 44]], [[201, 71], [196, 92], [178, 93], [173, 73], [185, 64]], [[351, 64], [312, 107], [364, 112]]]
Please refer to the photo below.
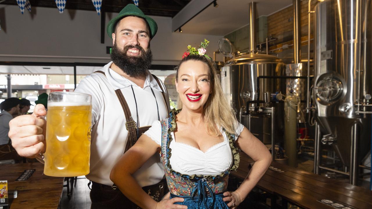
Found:
[[[105, 73], [103, 71], [96, 71], [94, 73], [102, 73], [103, 75], [105, 75]], [[160, 89], [162, 90], [163, 99], [164, 99], [164, 102], [165, 102], [166, 107], [168, 109], [166, 94], [165, 94], [165, 91], [164, 91], [163, 87], [160, 84], [159, 78], [157, 78], [155, 75], [153, 75], [153, 77], [157, 81]], [[126, 130], [128, 130], [128, 136], [127, 136], [127, 141], [126, 141], [125, 150], [124, 150], [124, 153], [125, 153], [126, 151], [128, 151], [129, 148], [131, 148], [135, 144], [135, 142], [137, 142], [138, 138], [144, 132], [146, 132], [151, 126], [138, 127], [138, 133], [139, 134], [137, 135], [136, 123], [132, 118], [131, 111], [129, 109], [128, 103], [126, 103], [126, 100], [124, 98], [124, 95], [123, 95], [122, 91], [120, 89], [117, 89], [117, 90], [115, 90], [115, 93], [116, 93], [116, 96], [118, 97], [118, 100], [119, 100], [119, 102], [120, 102], [120, 104], [123, 108], [125, 119], [126, 119], [125, 128], [126, 128]], [[93, 185], [94, 184], [96, 185], [95, 187], [97, 187], [98, 189], [102, 190], [103, 188], [106, 188], [106, 190], [110, 190], [109, 186], [107, 186], [107, 185], [99, 184], [99, 183], [93, 183]], [[93, 187], [92, 187], [92, 189], [93, 189]], [[157, 202], [159, 202], [161, 200], [161, 198], [169, 191], [168, 187], [167, 187], [167, 184], [164, 180], [157, 183], [157, 184], [154, 184], [154, 185], [142, 187], [142, 189], [148, 195], [150, 195], [154, 200], [156, 200]], [[111, 187], [111, 191], [120, 192], [120, 190], [115, 185], [113, 185]], [[126, 200], [124, 200], [124, 202], [129, 201], [124, 195], [122, 195], [122, 198], [126, 199]], [[92, 208], [93, 208], [93, 202], [94, 202], [94, 200], [92, 199]], [[118, 202], [123, 202], [123, 200], [119, 200]], [[119, 206], [119, 207], [122, 207], [122, 206]], [[128, 208], [139, 209], [140, 207], [138, 207], [137, 205], [132, 203], [131, 207], [128, 207]]]

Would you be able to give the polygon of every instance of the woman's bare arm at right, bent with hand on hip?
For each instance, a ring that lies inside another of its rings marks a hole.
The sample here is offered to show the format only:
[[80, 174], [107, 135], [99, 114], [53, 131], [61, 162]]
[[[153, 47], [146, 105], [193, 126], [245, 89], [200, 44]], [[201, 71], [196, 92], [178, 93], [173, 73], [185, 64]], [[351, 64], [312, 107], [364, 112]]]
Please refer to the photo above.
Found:
[[[267, 168], [269, 168], [272, 157], [267, 147], [253, 136], [246, 127], [244, 127], [235, 145], [255, 161], [246, 179], [244, 179], [239, 188], [235, 190], [235, 192], [224, 193], [225, 196], [228, 196], [224, 198], [224, 201], [232, 201], [237, 206], [246, 199], [248, 193], [256, 186]], [[228, 206], [232, 207], [232, 203], [229, 202]], [[235, 206], [232, 208], [235, 208]]]

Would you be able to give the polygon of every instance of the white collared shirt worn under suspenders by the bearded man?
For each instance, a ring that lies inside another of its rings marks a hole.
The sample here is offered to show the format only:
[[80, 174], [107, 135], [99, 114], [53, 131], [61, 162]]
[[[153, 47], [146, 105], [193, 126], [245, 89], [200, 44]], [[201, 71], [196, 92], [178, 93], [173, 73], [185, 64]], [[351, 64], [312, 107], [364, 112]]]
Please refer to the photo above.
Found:
[[[139, 126], [151, 126], [158, 120], [156, 102], [151, 89], [153, 89], [159, 106], [160, 120], [168, 117], [168, 110], [162, 91], [156, 80], [146, 73], [144, 87], [137, 86], [132, 81], [122, 77], [110, 66], [112, 62], [105, 65], [101, 73], [93, 73], [80, 81], [76, 92], [92, 95], [92, 144], [90, 148], [90, 173], [87, 179], [111, 186], [110, 172], [123, 155], [128, 131], [125, 128], [125, 115], [122, 106], [115, 94], [116, 89], [121, 89], [132, 118], [137, 120], [137, 100]], [[161, 83], [166, 91], [165, 86]], [[167, 98], [168, 93], [166, 92]], [[169, 106], [169, 100], [166, 101]], [[164, 177], [163, 166], [160, 163], [159, 154], [153, 155], [142, 167], [134, 173], [134, 178], [141, 187], [158, 183]]]

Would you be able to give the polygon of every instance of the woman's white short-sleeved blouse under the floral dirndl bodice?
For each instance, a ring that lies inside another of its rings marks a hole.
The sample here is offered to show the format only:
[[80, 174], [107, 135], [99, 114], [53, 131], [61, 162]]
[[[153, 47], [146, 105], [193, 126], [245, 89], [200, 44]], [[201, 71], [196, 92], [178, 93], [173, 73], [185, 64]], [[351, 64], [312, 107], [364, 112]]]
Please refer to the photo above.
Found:
[[[235, 130], [235, 141], [244, 126], [237, 122]], [[221, 129], [224, 141], [213, 145], [206, 152], [188, 144], [176, 142], [174, 134], [171, 132], [173, 140], [170, 142], [171, 157], [169, 163], [173, 170], [186, 175], [216, 176], [228, 170], [233, 163], [233, 156], [228, 138]], [[149, 136], [158, 145], [161, 145], [161, 124], [155, 121], [148, 131], [144, 134]]]

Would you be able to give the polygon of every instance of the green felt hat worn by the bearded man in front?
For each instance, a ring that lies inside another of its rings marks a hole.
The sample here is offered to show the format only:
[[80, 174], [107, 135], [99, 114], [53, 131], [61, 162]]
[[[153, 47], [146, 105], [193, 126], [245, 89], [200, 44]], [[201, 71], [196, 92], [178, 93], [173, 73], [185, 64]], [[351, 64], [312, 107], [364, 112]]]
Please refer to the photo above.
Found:
[[157, 30], [158, 30], [158, 25], [156, 24], [155, 20], [153, 20], [151, 17], [146, 16], [140, 8], [135, 6], [134, 4], [128, 4], [126, 5], [119, 13], [118, 16], [114, 17], [113, 19], [110, 20], [109, 24], [107, 25], [107, 34], [109, 35], [110, 38], [112, 38], [112, 33], [115, 32], [115, 25], [116, 22], [118, 22], [122, 17], [124, 16], [137, 16], [137, 17], [142, 17], [146, 20], [148, 25], [150, 26], [150, 38], [154, 38]]

